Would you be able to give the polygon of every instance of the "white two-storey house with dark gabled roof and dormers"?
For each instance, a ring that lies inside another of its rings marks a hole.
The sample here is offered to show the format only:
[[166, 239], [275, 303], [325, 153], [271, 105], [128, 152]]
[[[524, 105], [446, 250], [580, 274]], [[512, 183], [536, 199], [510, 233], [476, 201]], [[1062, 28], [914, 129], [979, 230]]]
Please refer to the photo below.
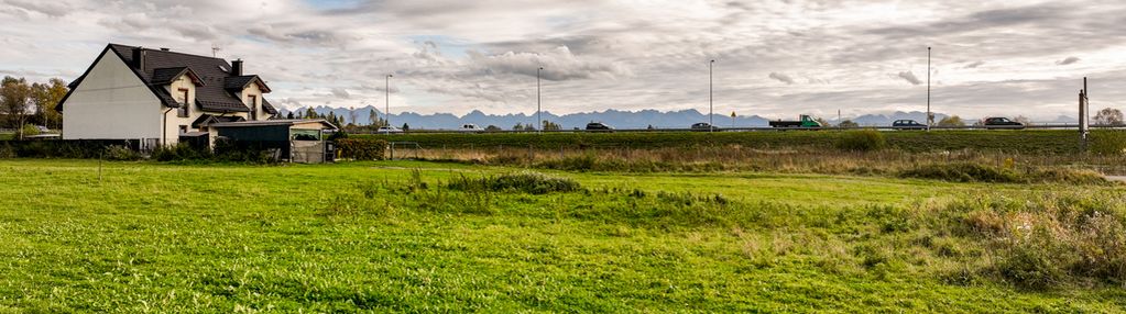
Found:
[[56, 109], [63, 139], [171, 145], [207, 136], [213, 123], [270, 119], [269, 92], [258, 75], [242, 73], [242, 61], [109, 44]]

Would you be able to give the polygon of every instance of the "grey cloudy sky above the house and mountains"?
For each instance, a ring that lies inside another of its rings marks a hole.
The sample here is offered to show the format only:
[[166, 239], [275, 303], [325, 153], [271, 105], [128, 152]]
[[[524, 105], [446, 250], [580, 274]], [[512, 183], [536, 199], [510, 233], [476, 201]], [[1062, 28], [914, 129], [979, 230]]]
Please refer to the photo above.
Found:
[[681, 110], [835, 118], [1126, 110], [1126, 2], [0, 0], [0, 75], [73, 80], [107, 43], [243, 58], [274, 103], [393, 112]]

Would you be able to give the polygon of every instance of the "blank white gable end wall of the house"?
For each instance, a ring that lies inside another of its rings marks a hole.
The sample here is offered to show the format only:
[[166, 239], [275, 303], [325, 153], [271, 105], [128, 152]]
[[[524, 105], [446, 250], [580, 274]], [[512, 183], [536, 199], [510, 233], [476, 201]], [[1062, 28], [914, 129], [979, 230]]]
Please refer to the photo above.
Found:
[[161, 138], [160, 114], [167, 109], [122, 58], [104, 54], [63, 103], [63, 138]]

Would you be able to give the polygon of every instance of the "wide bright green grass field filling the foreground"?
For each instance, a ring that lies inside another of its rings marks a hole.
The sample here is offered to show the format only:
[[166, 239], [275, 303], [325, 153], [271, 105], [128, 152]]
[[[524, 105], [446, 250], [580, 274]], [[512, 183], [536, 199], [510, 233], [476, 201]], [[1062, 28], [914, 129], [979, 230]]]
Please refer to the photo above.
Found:
[[1121, 185], [519, 172], [0, 160], [0, 312], [1126, 307]]

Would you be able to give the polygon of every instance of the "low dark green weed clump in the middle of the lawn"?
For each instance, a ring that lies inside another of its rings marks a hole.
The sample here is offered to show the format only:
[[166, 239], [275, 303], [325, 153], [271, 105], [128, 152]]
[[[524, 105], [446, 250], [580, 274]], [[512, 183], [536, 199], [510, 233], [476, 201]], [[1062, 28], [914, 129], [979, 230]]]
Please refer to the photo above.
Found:
[[582, 187], [578, 182], [553, 177], [539, 173], [522, 172], [486, 176], [481, 178], [458, 177], [449, 182], [450, 190], [459, 191], [491, 191], [491, 192], [522, 192], [528, 194], [548, 194], [558, 192], [578, 192]]

